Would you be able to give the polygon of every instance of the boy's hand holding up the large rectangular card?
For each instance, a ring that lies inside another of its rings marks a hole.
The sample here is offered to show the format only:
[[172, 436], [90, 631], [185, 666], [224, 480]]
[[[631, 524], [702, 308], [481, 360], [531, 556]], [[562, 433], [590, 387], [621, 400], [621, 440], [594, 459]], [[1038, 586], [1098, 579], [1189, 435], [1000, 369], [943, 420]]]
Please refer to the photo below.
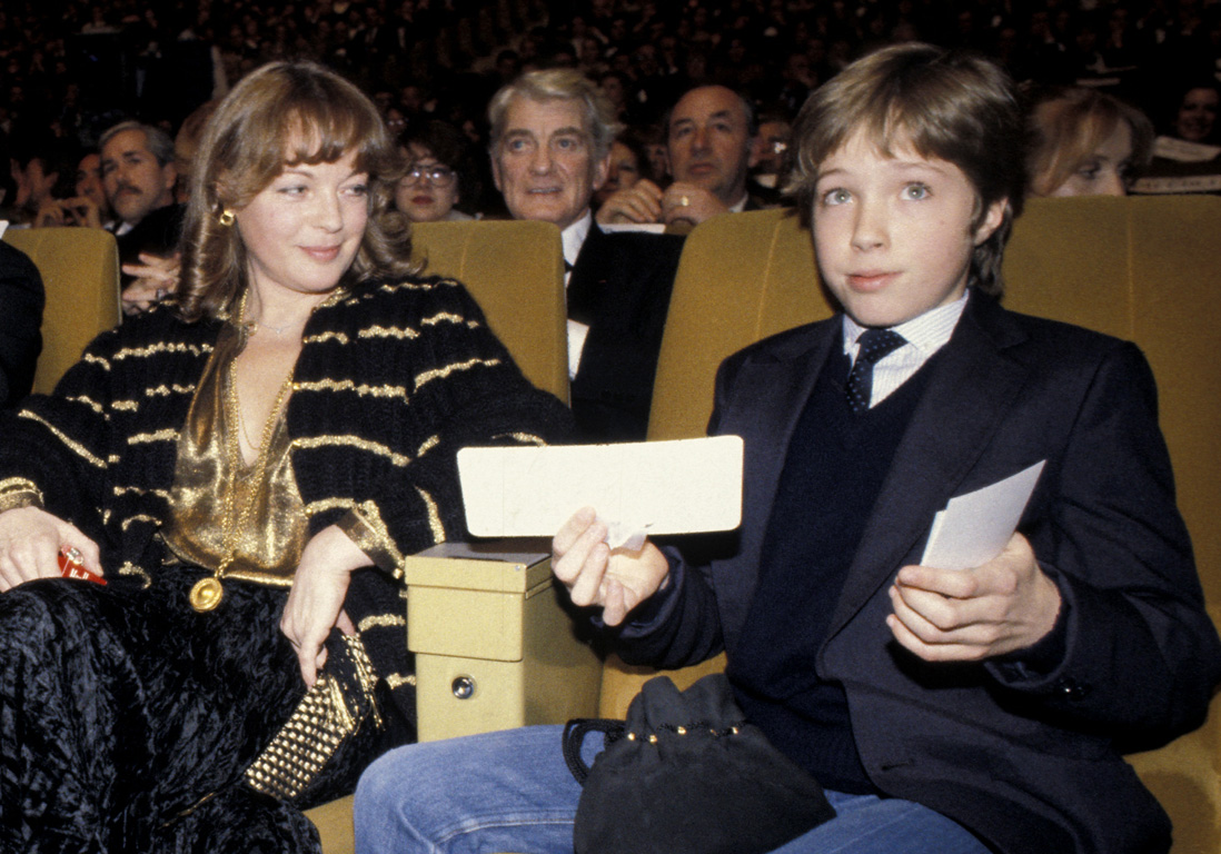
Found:
[[552, 571], [568, 588], [574, 605], [602, 606], [602, 621], [618, 626], [628, 613], [657, 593], [670, 566], [657, 546], [640, 551], [610, 550], [607, 527], [586, 507], [573, 514], [551, 541]]

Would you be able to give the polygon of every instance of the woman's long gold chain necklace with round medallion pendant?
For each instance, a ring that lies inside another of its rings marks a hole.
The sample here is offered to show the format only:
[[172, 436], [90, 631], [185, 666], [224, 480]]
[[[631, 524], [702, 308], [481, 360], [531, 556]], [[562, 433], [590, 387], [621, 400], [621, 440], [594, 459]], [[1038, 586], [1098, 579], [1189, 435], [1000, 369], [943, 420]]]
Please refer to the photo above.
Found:
[[[249, 293], [249, 292], [247, 292]], [[242, 302], [238, 305], [238, 327], [243, 326], [245, 319], [245, 298], [247, 293], [242, 294]], [[254, 467], [250, 469], [249, 476], [254, 478], [252, 489], [245, 501], [242, 502], [242, 508], [234, 518], [234, 506], [237, 503], [237, 480], [238, 474], [243, 468], [242, 459], [242, 446], [238, 440], [237, 430], [238, 426], [243, 432], [245, 431], [245, 424], [242, 422], [242, 407], [237, 398], [237, 357], [230, 362], [228, 365], [228, 389], [226, 390], [225, 404], [228, 409], [230, 418], [226, 419], [225, 430], [225, 447], [228, 456], [230, 465], [230, 484], [228, 490], [225, 492], [225, 557], [221, 558], [220, 564], [216, 567], [210, 577], [200, 578], [195, 582], [195, 585], [190, 588], [190, 607], [195, 611], [204, 612], [211, 611], [217, 605], [221, 604], [221, 599], [225, 597], [225, 588], [221, 585], [221, 578], [225, 575], [225, 571], [232, 566], [237, 557], [237, 539], [241, 533], [245, 529], [250, 520], [250, 513], [254, 512], [254, 505], [259, 497], [259, 484], [267, 475], [267, 463], [271, 454], [271, 439], [276, 431], [276, 424], [280, 420], [280, 411], [284, 404], [284, 400], [288, 397], [288, 392], [293, 387], [293, 371], [289, 369], [288, 376], [284, 378], [283, 384], [280, 386], [280, 393], [276, 395], [276, 402], [271, 407], [271, 414], [267, 415], [267, 423], [263, 425], [263, 441], [259, 445], [259, 454], [254, 461]], [[237, 422], [234, 424], [234, 420]], [[249, 437], [247, 437], [249, 441]]]

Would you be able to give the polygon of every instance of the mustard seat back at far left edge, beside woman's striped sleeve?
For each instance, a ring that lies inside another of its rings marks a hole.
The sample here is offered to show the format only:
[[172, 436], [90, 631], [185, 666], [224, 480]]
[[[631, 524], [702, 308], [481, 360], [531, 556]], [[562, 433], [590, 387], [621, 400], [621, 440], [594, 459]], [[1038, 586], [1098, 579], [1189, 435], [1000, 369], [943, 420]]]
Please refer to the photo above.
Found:
[[34, 391], [50, 392], [94, 336], [118, 323], [118, 246], [100, 228], [9, 228], [46, 291]]

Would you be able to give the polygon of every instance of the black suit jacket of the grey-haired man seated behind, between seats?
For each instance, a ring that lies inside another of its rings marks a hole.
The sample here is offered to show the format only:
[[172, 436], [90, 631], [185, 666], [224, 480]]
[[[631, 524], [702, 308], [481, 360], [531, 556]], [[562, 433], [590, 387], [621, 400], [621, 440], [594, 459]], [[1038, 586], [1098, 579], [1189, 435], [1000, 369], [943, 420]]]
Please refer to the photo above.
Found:
[[597, 222], [568, 281], [568, 316], [590, 327], [571, 385], [584, 441], [642, 441], [684, 238], [607, 233]]

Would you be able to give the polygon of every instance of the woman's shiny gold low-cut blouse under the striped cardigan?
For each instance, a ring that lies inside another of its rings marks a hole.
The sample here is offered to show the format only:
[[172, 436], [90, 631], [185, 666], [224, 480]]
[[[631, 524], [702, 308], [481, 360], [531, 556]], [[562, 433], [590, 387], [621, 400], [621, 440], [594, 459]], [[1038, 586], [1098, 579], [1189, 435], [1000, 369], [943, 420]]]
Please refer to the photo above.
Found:
[[[228, 555], [226, 527], [237, 524], [239, 508], [253, 495], [254, 505], [244, 529], [236, 531], [237, 551], [223, 578], [289, 586], [308, 541], [308, 528], [288, 454], [292, 442], [284, 419], [287, 404], [281, 407], [272, 431], [265, 469], [258, 470], [258, 462], [247, 467], [236, 454], [236, 478], [231, 470], [228, 436], [242, 428], [239, 413], [226, 404], [230, 365], [245, 347], [245, 330], [225, 324], [204, 368], [178, 439], [171, 517], [162, 536], [179, 561], [215, 571]], [[237, 489], [232, 502], [226, 501], [230, 489]], [[234, 517], [230, 522], [225, 518], [227, 503]]]

